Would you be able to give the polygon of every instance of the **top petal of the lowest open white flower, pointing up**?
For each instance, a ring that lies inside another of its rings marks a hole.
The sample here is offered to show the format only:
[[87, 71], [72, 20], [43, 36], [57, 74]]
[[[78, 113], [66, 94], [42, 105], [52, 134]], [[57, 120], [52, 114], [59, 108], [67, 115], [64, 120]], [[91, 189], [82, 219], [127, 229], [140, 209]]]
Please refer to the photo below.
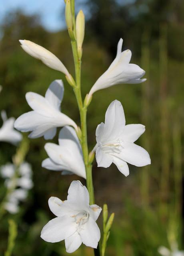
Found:
[[78, 205], [78, 208], [86, 209], [90, 203], [88, 189], [80, 181], [72, 181], [68, 189], [68, 203]]

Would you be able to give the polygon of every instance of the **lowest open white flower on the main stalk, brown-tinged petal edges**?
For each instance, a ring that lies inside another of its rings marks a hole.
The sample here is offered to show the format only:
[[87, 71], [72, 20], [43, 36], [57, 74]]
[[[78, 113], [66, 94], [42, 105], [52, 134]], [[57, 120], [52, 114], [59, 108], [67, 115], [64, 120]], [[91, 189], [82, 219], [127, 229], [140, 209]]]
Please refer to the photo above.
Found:
[[51, 243], [65, 240], [66, 251], [70, 253], [82, 243], [97, 248], [100, 230], [96, 220], [102, 209], [98, 205], [89, 205], [88, 190], [80, 181], [72, 181], [67, 200], [50, 197], [48, 205], [57, 217], [44, 226], [42, 239]]

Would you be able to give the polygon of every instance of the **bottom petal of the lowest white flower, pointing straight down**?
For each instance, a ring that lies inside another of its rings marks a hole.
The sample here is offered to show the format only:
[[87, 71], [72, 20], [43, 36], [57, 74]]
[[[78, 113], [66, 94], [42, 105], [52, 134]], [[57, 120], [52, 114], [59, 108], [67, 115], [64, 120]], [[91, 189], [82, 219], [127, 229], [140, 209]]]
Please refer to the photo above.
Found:
[[75, 252], [82, 244], [80, 235], [76, 231], [72, 236], [65, 238], [65, 247], [66, 252], [72, 253]]

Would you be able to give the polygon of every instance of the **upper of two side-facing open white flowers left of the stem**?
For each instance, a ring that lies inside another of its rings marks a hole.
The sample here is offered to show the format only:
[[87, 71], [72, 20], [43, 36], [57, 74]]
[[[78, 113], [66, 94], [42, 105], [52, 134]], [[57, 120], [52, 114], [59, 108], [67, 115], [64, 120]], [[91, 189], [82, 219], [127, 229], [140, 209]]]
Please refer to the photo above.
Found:
[[15, 121], [14, 127], [21, 132], [32, 131], [29, 138], [44, 136], [46, 140], [54, 138], [56, 127], [71, 125], [77, 128], [71, 118], [60, 112], [63, 94], [62, 80], [54, 80], [50, 84], [45, 98], [38, 93], [26, 93], [26, 100], [34, 111], [20, 116]]

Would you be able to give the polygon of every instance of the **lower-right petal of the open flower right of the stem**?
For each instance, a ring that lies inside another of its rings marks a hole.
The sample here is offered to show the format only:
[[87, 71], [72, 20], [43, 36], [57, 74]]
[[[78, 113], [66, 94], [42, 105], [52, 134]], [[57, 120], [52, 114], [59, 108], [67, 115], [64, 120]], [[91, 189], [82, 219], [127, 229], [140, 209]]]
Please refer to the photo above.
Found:
[[122, 146], [122, 159], [127, 163], [137, 167], [151, 164], [150, 156], [144, 148], [129, 142], [124, 142]]

